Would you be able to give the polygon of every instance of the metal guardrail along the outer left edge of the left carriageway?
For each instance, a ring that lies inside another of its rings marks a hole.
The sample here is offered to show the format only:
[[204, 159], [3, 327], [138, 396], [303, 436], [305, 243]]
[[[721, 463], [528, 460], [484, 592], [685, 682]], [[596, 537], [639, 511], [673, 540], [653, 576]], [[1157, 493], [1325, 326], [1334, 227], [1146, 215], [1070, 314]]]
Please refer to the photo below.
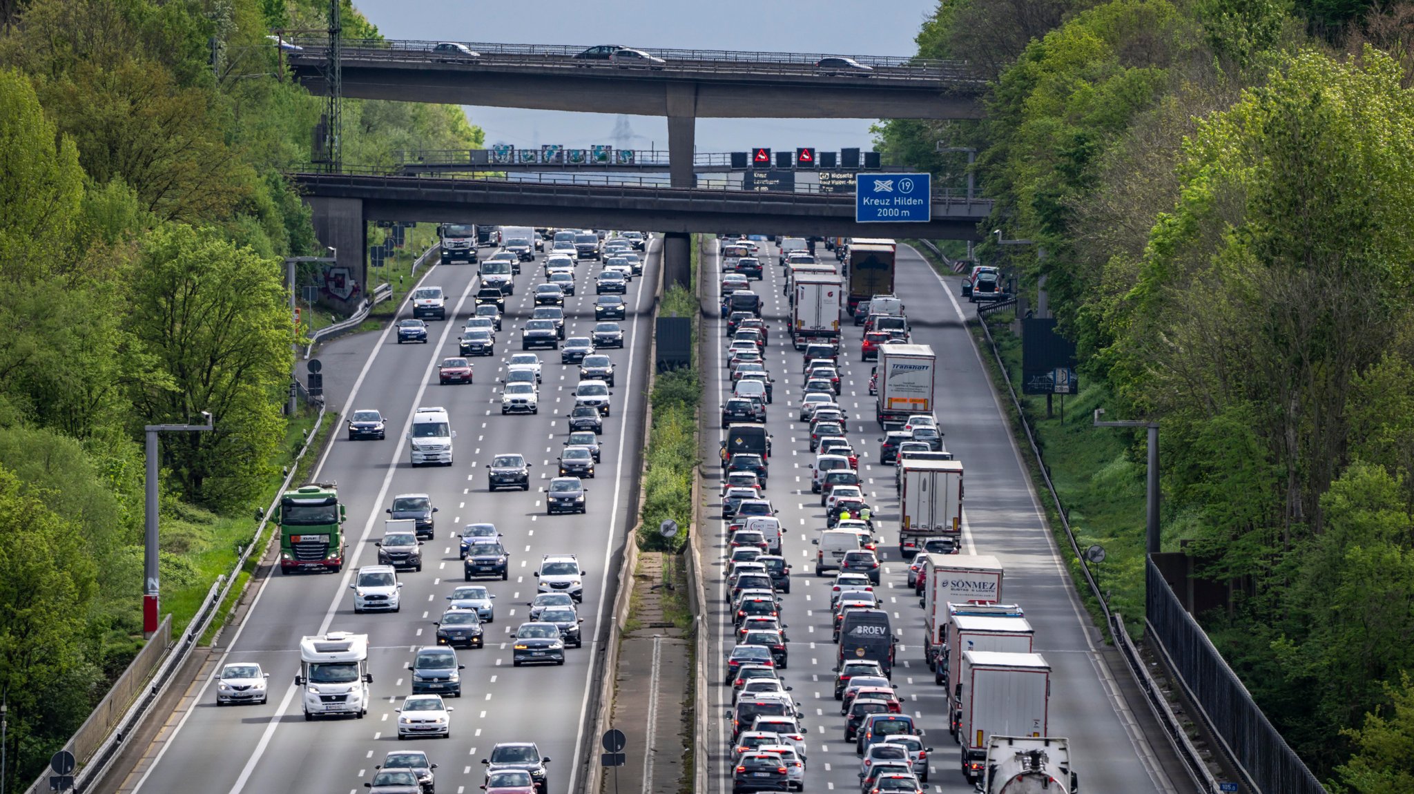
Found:
[[[294, 456], [294, 461], [290, 465], [290, 470], [284, 476], [284, 482], [280, 483], [279, 490], [276, 490], [274, 497], [270, 500], [270, 506], [266, 507], [264, 510], [264, 514], [267, 517], [273, 514], [274, 509], [279, 506], [280, 494], [290, 487], [290, 480], [294, 479], [294, 475], [298, 470], [300, 461], [310, 451], [310, 444], [312, 444], [314, 439], [318, 437], [320, 427], [322, 427], [322, 424], [324, 424], [324, 404], [320, 403], [320, 413], [314, 420], [314, 428], [311, 428], [310, 434], [304, 438], [304, 445], [300, 448], [300, 452]], [[191, 622], [187, 623], [187, 629], [182, 632], [181, 639], [171, 646], [171, 650], [163, 660], [161, 667], [158, 667], [157, 672], [153, 675], [147, 691], [139, 695], [137, 699], [133, 702], [133, 705], [129, 706], [127, 712], [124, 712], [123, 718], [117, 722], [117, 725], [107, 735], [103, 743], [98, 746], [92, 757], [79, 759], [79, 762], [83, 766], [74, 774], [75, 791], [88, 791], [93, 784], [96, 784], [103, 777], [103, 773], [107, 770], [107, 766], [113, 762], [113, 759], [122, 749], [123, 742], [132, 737], [139, 723], [147, 715], [147, 709], [151, 708], [151, 705], [156, 704], [167, 691], [167, 687], [171, 685], [177, 671], [187, 661], [187, 656], [197, 646], [197, 641], [201, 639], [201, 636], [206, 633], [206, 627], [211, 626], [211, 622], [219, 612], [221, 605], [225, 603], [226, 596], [230, 593], [230, 586], [236, 582], [236, 579], [240, 578], [239, 572], [249, 561], [250, 552], [255, 550], [255, 540], [260, 537], [262, 531], [264, 531], [267, 519], [262, 517], [260, 523], [256, 526], [255, 534], [252, 535], [252, 543], [247, 543], [245, 548], [242, 548], [240, 557], [236, 559], [235, 565], [232, 565], [230, 572], [216, 576], [216, 581], [212, 582], [211, 589], [206, 591], [205, 600], [201, 602], [201, 606], [197, 609], [197, 613], [192, 616]], [[276, 535], [270, 535], [270, 541], [274, 540]], [[269, 550], [270, 541], [267, 541], [266, 545], [262, 547], [260, 550], [262, 557], [264, 557], [266, 550]], [[168, 616], [168, 620], [170, 619], [171, 616]], [[69, 742], [65, 743], [65, 749], [72, 749], [72, 745], [74, 739], [69, 739]], [[48, 774], [41, 776], [40, 780], [37, 780], [34, 786], [31, 786], [25, 791], [25, 794], [41, 794], [44, 791], [49, 791]]]

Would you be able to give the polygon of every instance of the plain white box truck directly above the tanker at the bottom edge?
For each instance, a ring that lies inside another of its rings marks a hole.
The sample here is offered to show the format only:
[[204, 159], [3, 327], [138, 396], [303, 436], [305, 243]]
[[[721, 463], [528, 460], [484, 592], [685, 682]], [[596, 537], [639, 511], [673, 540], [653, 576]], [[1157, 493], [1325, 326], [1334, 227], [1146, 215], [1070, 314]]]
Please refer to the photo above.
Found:
[[963, 746], [962, 771], [976, 783], [997, 736], [1045, 736], [1051, 665], [1038, 653], [963, 651], [949, 728]]

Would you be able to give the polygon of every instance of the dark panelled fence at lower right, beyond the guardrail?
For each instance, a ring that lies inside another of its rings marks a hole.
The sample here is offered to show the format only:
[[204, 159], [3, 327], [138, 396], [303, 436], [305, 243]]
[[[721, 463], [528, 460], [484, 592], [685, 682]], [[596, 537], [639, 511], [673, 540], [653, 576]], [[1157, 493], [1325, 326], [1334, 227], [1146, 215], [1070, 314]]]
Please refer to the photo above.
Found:
[[1253, 791], [1325, 794], [1325, 788], [1261, 713], [1202, 626], [1184, 609], [1154, 561], [1145, 568], [1145, 626], [1188, 698], [1203, 712]]

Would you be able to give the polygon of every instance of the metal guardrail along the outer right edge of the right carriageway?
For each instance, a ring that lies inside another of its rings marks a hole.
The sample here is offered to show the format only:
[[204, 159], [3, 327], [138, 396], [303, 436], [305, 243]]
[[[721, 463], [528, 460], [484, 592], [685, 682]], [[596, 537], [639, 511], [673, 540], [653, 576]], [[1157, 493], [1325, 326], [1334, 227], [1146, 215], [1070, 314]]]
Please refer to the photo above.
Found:
[[[1178, 753], [1179, 760], [1198, 784], [1198, 790], [1203, 794], [1220, 794], [1217, 780], [1213, 777], [1213, 773], [1209, 771], [1203, 759], [1198, 754], [1198, 749], [1188, 737], [1184, 726], [1178, 722], [1172, 708], [1169, 708], [1168, 699], [1164, 697], [1158, 682], [1154, 681], [1154, 677], [1150, 675], [1148, 668], [1144, 665], [1144, 660], [1140, 658], [1138, 650], [1134, 647], [1133, 639], [1130, 639], [1128, 629], [1124, 626], [1124, 619], [1120, 613], [1110, 610], [1110, 603], [1100, 591], [1100, 585], [1094, 581], [1094, 574], [1090, 571], [1089, 561], [1083, 554], [1080, 554], [1080, 544], [1076, 541], [1075, 530], [1070, 528], [1070, 519], [1066, 514], [1065, 507], [1060, 504], [1060, 494], [1056, 493], [1055, 483], [1051, 482], [1051, 470], [1046, 468], [1045, 458], [1041, 456], [1041, 448], [1036, 445], [1036, 437], [1031, 429], [1031, 422], [1027, 421], [1027, 414], [1021, 407], [1021, 400], [1017, 397], [1017, 389], [1011, 383], [1011, 374], [1007, 373], [1007, 362], [1001, 357], [997, 340], [993, 339], [991, 329], [987, 328], [987, 322], [981, 319], [981, 316], [978, 316], [978, 325], [981, 325], [983, 333], [987, 336], [987, 343], [991, 346], [991, 353], [997, 360], [997, 369], [1001, 372], [1001, 377], [1007, 383], [1007, 394], [1011, 397], [1011, 405], [1017, 411], [1017, 418], [1021, 421], [1022, 431], [1025, 431], [1027, 444], [1031, 446], [1031, 454], [1036, 459], [1036, 468], [1041, 470], [1041, 479], [1045, 482], [1046, 492], [1051, 494], [1051, 502], [1055, 504], [1056, 516], [1060, 517], [1060, 526], [1065, 528], [1065, 537], [1070, 545], [1070, 552], [1080, 564], [1080, 572], [1085, 575], [1085, 581], [1090, 586], [1090, 595], [1094, 596], [1094, 600], [1100, 605], [1100, 612], [1104, 613], [1104, 620], [1110, 627], [1110, 634], [1114, 637], [1114, 643], [1118, 646], [1121, 656], [1130, 668], [1130, 674], [1134, 675], [1135, 682], [1144, 691], [1144, 697], [1148, 701], [1150, 709], [1154, 712], [1154, 718], [1164, 729], [1164, 733], [1168, 736], [1169, 743]], [[1150, 565], [1152, 565], [1152, 562]], [[1278, 793], [1273, 791], [1271, 794]]]

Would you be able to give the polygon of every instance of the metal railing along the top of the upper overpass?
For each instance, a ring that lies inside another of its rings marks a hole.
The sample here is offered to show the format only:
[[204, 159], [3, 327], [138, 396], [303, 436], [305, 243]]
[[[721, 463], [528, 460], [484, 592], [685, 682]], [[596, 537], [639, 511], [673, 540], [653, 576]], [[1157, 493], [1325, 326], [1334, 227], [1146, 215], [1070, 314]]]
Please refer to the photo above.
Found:
[[[287, 61], [305, 58], [322, 59], [328, 48], [327, 37], [287, 37], [286, 42], [300, 47], [298, 51], [286, 51]], [[525, 65], [525, 66], [563, 66], [563, 68], [600, 68], [621, 69], [624, 66], [604, 58], [580, 58], [580, 54], [590, 49], [587, 45], [546, 45], [546, 44], [492, 44], [492, 42], [454, 42], [462, 44], [475, 57], [464, 57], [457, 52], [436, 51], [441, 41], [417, 40], [358, 40], [345, 38], [341, 42], [345, 62], [351, 59], [382, 59], [382, 61], [448, 61], [465, 65]], [[909, 81], [966, 81], [978, 86], [983, 79], [967, 61], [945, 61], [932, 58], [899, 58], [888, 55], [839, 55], [827, 52], [754, 52], [732, 49], [660, 49], [638, 48], [649, 55], [663, 59], [663, 64], [653, 64], [658, 72], [764, 72], [776, 75], [800, 76], [834, 76], [834, 72], [824, 72], [816, 66], [822, 58], [851, 58], [854, 62], [870, 66], [871, 71], [839, 71], [840, 75], [870, 78], [870, 79], [909, 79]], [[420, 58], [419, 58], [420, 57]], [[635, 65], [636, 66], [636, 65]], [[635, 69], [638, 71], [638, 69]]]

